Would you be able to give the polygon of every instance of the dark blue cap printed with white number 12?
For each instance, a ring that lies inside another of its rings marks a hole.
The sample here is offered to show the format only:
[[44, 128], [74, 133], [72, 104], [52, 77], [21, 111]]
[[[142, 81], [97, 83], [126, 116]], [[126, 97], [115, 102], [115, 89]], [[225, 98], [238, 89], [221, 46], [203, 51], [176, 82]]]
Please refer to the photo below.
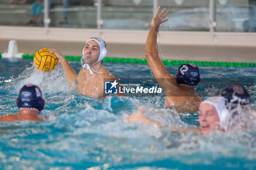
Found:
[[195, 87], [200, 82], [200, 71], [193, 63], [184, 63], [178, 67], [176, 82], [178, 85]]

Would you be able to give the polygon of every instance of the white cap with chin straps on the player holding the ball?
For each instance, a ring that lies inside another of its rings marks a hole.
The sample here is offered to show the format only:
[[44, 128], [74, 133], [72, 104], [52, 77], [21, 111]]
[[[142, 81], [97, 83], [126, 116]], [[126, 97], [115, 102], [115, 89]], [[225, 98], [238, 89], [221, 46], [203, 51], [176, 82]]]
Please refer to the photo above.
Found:
[[[105, 56], [107, 55], [107, 49], [106, 49], [105, 41], [103, 39], [99, 38], [99, 37], [96, 37], [96, 36], [91, 37], [90, 39], [88, 39], [86, 41], [86, 44], [89, 41], [97, 42], [98, 45], [99, 45], [99, 58], [98, 58], [97, 62], [95, 62], [95, 63], [98, 63], [99, 61], [102, 61], [103, 58], [105, 58]], [[85, 44], [85, 47], [86, 47], [86, 44]], [[80, 62], [81, 62], [81, 65], [82, 65], [83, 69], [89, 69], [90, 73], [93, 74], [93, 72], [91, 70], [93, 70], [94, 72], [97, 72], [97, 71], [92, 69], [91, 66], [88, 63], [83, 64], [83, 59], [86, 58], [86, 55], [84, 54], [85, 47], [83, 47], [83, 52], [82, 52], [83, 55], [82, 55], [82, 58], [81, 58]], [[95, 63], [93, 63], [91, 65], [94, 65]], [[97, 73], [102, 73], [102, 72], [97, 72]]]

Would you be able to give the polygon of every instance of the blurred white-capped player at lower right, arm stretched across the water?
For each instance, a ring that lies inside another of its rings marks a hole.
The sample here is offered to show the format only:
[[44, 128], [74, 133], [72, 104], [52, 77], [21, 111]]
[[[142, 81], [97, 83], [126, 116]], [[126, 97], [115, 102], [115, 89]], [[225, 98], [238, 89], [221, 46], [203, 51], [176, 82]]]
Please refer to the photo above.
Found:
[[[237, 112], [236, 108], [227, 108], [226, 98], [223, 96], [214, 96], [207, 98], [200, 103], [199, 107], [199, 123], [200, 128], [181, 128], [175, 125], [170, 125], [172, 131], [198, 131], [201, 134], [210, 134], [211, 131], [236, 131], [245, 129], [248, 124], [248, 120], [252, 117], [249, 115], [247, 119], [244, 115], [244, 110], [238, 111], [238, 114], [234, 115], [233, 112]], [[246, 119], [241, 119], [244, 117]], [[143, 109], [140, 107], [137, 112], [127, 117], [128, 121], [140, 122], [143, 124], [154, 124], [162, 127], [163, 123], [151, 120], [143, 114]], [[238, 121], [236, 121], [238, 120]], [[245, 120], [245, 121], [244, 121]], [[235, 125], [234, 125], [235, 123]], [[253, 122], [252, 122], [253, 123]], [[252, 127], [252, 126], [248, 126]]]

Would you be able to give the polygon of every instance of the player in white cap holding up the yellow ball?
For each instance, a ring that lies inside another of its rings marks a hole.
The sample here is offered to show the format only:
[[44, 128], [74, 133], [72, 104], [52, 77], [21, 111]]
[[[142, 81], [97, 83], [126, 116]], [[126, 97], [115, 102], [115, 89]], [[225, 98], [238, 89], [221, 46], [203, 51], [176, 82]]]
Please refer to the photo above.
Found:
[[105, 41], [98, 37], [91, 37], [86, 41], [81, 58], [82, 69], [77, 74], [69, 65], [58, 50], [50, 49], [51, 53], [59, 58], [59, 62], [64, 69], [69, 85], [78, 88], [78, 92], [93, 98], [104, 98], [104, 81], [114, 81], [114, 77], [102, 65], [102, 60], [107, 55]]

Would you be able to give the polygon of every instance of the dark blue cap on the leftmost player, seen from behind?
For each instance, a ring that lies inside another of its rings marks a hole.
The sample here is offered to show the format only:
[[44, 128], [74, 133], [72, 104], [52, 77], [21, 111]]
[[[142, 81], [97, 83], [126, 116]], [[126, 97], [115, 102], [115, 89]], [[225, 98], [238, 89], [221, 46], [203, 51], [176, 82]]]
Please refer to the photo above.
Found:
[[41, 111], [45, 106], [45, 101], [42, 99], [42, 92], [37, 85], [28, 84], [20, 89], [17, 98], [18, 108], [35, 108]]

